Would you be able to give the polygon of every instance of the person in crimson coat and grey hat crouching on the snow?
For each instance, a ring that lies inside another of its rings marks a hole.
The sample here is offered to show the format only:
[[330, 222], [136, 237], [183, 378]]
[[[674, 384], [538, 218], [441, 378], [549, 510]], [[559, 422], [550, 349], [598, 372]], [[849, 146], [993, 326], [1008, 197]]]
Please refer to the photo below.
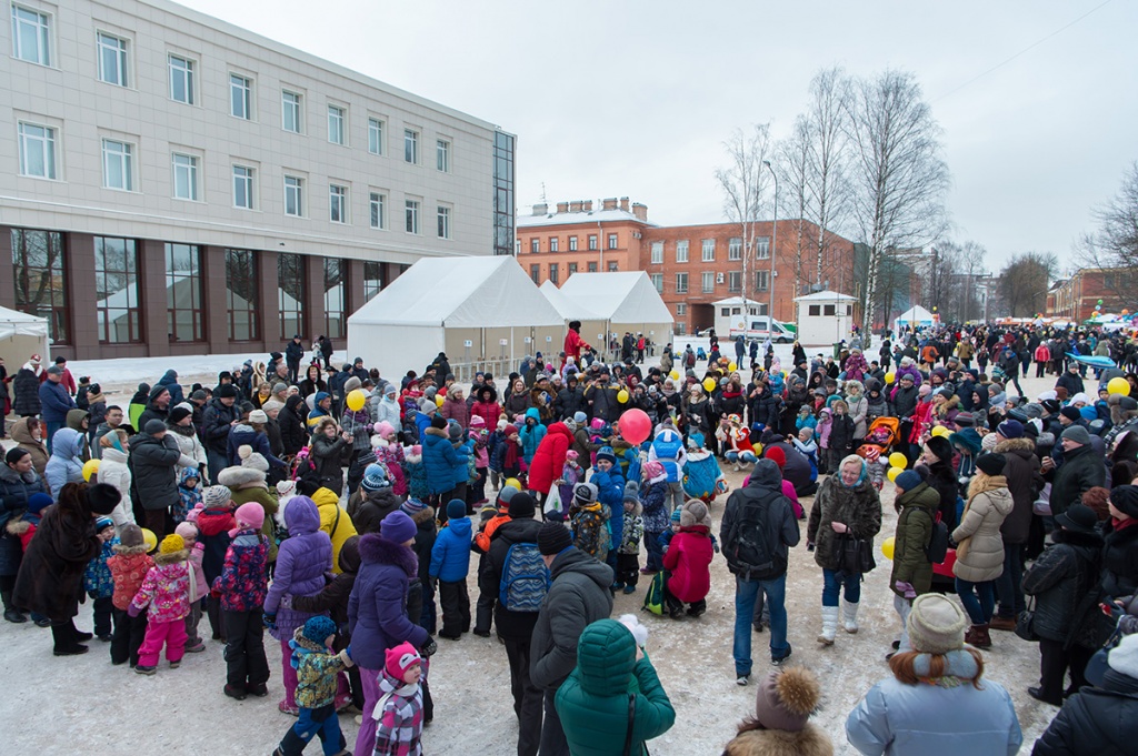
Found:
[[663, 555], [663, 600], [673, 620], [687, 615], [698, 617], [707, 610], [707, 596], [711, 590], [711, 515], [706, 504], [692, 499], [679, 512], [679, 532], [671, 539]]

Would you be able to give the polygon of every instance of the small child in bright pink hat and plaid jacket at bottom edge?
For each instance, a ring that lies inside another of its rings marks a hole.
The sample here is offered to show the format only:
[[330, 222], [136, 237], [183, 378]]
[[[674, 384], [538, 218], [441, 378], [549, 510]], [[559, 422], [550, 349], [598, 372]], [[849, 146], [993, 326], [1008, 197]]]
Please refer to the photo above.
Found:
[[423, 659], [415, 647], [403, 642], [387, 649], [379, 679], [382, 697], [376, 704], [374, 756], [419, 756], [423, 732], [423, 693], [419, 681]]

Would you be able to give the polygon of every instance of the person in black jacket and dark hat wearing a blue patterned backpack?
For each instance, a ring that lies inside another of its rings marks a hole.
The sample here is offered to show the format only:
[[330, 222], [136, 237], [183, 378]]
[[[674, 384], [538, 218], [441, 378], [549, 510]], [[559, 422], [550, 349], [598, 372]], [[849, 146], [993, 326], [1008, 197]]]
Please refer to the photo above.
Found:
[[490, 538], [485, 582], [498, 600], [494, 625], [510, 663], [510, 691], [518, 717], [518, 756], [536, 756], [542, 737], [542, 689], [529, 678], [530, 637], [550, 587], [550, 571], [537, 548], [542, 523], [526, 492], [513, 495], [510, 518]]

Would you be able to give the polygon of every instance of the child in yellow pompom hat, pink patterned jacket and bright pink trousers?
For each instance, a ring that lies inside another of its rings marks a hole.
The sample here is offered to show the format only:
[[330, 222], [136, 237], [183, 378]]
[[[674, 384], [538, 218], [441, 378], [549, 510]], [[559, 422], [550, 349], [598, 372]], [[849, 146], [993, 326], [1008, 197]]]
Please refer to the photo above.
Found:
[[137, 617], [149, 607], [146, 639], [139, 648], [139, 663], [134, 671], [154, 674], [158, 666], [158, 653], [166, 646], [170, 668], [176, 670], [185, 653], [185, 615], [190, 613], [193, 579], [187, 563], [189, 553], [181, 535], [172, 534], [162, 539], [154, 566], [146, 574], [142, 587], [126, 613]]

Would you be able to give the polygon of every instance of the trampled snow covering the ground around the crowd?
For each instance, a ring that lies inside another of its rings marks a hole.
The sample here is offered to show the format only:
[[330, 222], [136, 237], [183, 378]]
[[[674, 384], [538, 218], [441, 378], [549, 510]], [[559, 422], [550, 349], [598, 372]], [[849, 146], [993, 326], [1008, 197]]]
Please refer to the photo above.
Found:
[[[179, 363], [179, 359], [190, 360]], [[185, 365], [187, 375], [197, 360], [200, 371], [216, 374], [234, 364], [233, 356], [208, 358], [160, 358], [154, 360], [102, 360], [72, 365], [76, 375], [91, 373], [98, 380], [123, 383], [154, 380], [165, 367]], [[217, 360], [216, 363], [212, 360]], [[240, 364], [242, 359], [237, 359]], [[123, 375], [117, 373], [122, 363]], [[81, 367], [82, 366], [82, 367]], [[160, 367], [160, 369], [159, 369]], [[148, 371], [148, 372], [147, 372]], [[130, 375], [130, 377], [126, 377]], [[137, 376], [137, 377], [135, 377]], [[189, 379], [187, 380], [189, 382]], [[1050, 381], [1026, 380], [1034, 394], [1050, 388]], [[129, 397], [127, 397], [129, 398]], [[727, 473], [732, 487], [744, 473]], [[884, 525], [877, 543], [892, 534], [896, 514], [892, 493], [883, 496]], [[723, 499], [712, 507], [716, 520], [723, 513]], [[810, 500], [803, 501], [809, 507]], [[805, 530], [805, 523], [802, 527]], [[643, 557], [642, 557], [643, 558]], [[824, 696], [817, 722], [830, 733], [835, 753], [850, 754], [844, 737], [844, 720], [858, 698], [877, 680], [889, 674], [884, 655], [898, 630], [888, 588], [890, 563], [879, 553], [879, 567], [866, 576], [863, 588], [861, 631], [856, 635], [840, 632], [831, 648], [819, 648], [815, 637], [820, 628], [819, 605], [822, 571], [803, 543], [791, 555], [787, 579], [787, 612], [792, 664], [814, 670], [822, 679]], [[472, 563], [473, 564], [473, 563]], [[477, 596], [473, 571], [471, 599]], [[734, 582], [721, 557], [712, 564], [712, 587], [708, 613], [700, 618], [673, 621], [640, 612], [644, 583], [632, 596], [618, 595], [613, 615], [636, 612], [651, 629], [649, 655], [676, 708], [676, 724], [650, 743], [657, 755], [679, 756], [719, 754], [736, 724], [753, 712], [753, 686], [735, 684], [732, 663], [734, 624]], [[77, 624], [91, 629], [91, 605], [81, 607]], [[208, 637], [208, 623], [201, 628]], [[1026, 695], [1037, 684], [1038, 648], [1013, 633], [992, 633], [993, 648], [984, 654], [986, 679], [1006, 687], [1015, 699], [1024, 730], [1023, 753], [1030, 753], [1034, 739], [1054, 716], [1054, 707]], [[768, 633], [753, 638], [754, 678], [769, 668]], [[280, 648], [266, 635], [271, 695], [265, 699], [234, 701], [222, 693], [225, 664], [222, 645], [207, 641], [204, 654], [187, 655], [181, 668], [159, 664], [152, 678], [129, 668], [113, 667], [106, 645], [92, 641], [91, 653], [79, 657], [51, 655], [50, 631], [31, 622], [15, 625], [0, 622], [0, 716], [7, 725], [0, 741], [5, 753], [130, 755], [140, 749], [170, 755], [269, 754], [284, 730], [295, 721], [277, 711], [280, 699]], [[510, 675], [505, 651], [496, 640], [464, 635], [461, 641], [439, 641], [431, 664], [431, 690], [436, 717], [423, 736], [424, 753], [431, 756], [514, 751], [517, 722], [512, 715]], [[356, 725], [348, 715], [340, 723], [349, 748]], [[318, 753], [319, 746], [308, 748]]]

